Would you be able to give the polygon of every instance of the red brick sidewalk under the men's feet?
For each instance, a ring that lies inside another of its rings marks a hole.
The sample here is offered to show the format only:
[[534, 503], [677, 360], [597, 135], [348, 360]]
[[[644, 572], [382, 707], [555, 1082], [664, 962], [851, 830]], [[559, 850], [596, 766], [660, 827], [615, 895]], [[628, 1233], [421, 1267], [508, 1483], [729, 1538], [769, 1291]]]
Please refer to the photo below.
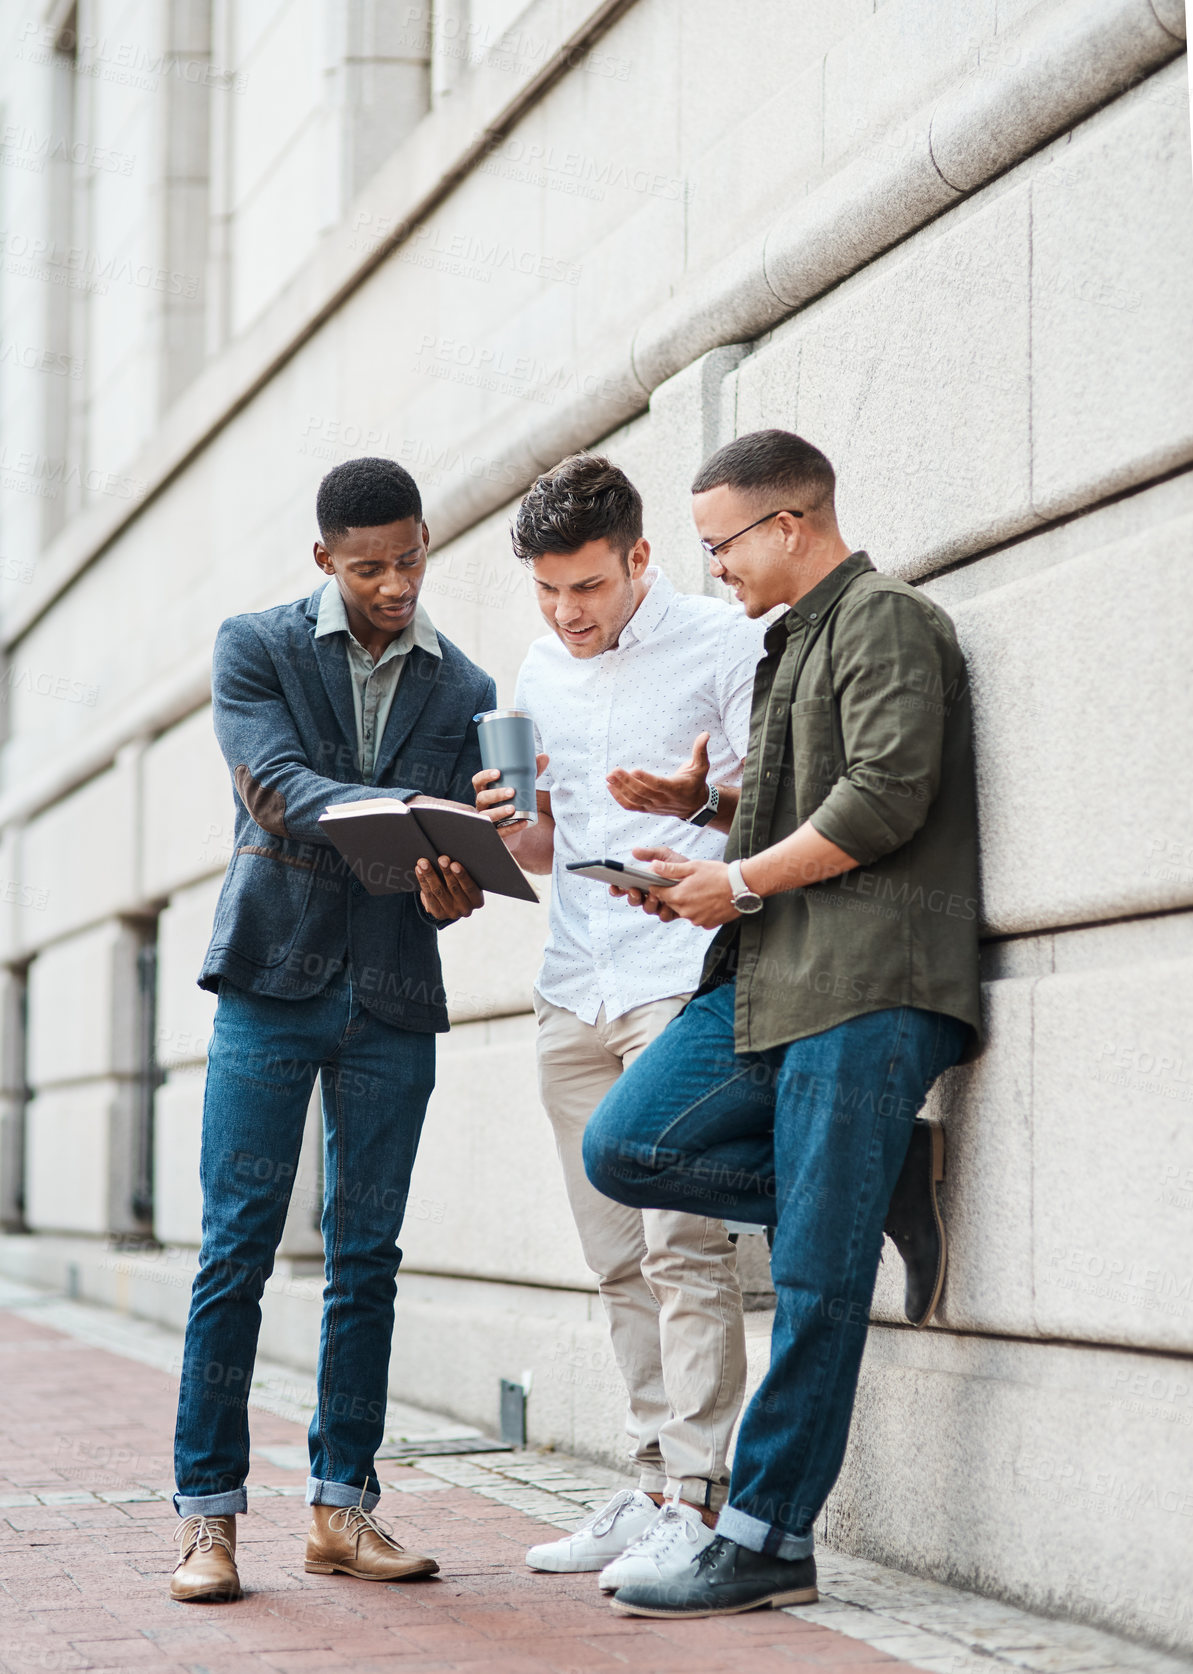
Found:
[[[253, 1460], [239, 1522], [246, 1599], [174, 1604], [169, 1500], [177, 1384], [161, 1371], [0, 1312], [0, 1667], [5, 1674], [571, 1674], [671, 1669], [768, 1674], [848, 1664], [900, 1669], [870, 1646], [778, 1610], [726, 1620], [612, 1615], [592, 1575], [534, 1575], [522, 1553], [544, 1523], [415, 1470], [381, 1513], [432, 1552], [430, 1582], [383, 1587], [306, 1575], [305, 1470]], [[254, 1448], [305, 1441], [251, 1415]], [[281, 1455], [286, 1458], [286, 1455]], [[149, 1490], [146, 1488], [149, 1485]], [[273, 1495], [253, 1498], [254, 1485]]]

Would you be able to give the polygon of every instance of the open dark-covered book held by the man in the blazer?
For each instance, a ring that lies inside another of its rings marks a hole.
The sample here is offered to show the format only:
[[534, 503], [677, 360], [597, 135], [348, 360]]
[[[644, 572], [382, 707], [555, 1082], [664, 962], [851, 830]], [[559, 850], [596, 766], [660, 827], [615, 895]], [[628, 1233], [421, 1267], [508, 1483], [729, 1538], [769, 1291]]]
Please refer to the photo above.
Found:
[[320, 825], [370, 896], [397, 896], [418, 887], [417, 860], [442, 854], [495, 896], [537, 901], [525, 872], [497, 835], [494, 822], [463, 802], [428, 802], [417, 809], [397, 797], [340, 802]]

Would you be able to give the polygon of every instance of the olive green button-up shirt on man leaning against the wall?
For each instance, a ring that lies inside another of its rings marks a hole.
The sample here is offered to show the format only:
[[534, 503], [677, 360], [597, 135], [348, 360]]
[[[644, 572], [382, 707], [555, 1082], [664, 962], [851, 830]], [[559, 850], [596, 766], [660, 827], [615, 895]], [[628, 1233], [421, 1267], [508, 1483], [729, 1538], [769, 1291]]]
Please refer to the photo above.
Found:
[[703, 986], [736, 976], [736, 1050], [888, 1006], [981, 1031], [970, 700], [952, 623], [853, 552], [765, 648], [725, 857], [812, 820], [860, 864], [718, 932]]

